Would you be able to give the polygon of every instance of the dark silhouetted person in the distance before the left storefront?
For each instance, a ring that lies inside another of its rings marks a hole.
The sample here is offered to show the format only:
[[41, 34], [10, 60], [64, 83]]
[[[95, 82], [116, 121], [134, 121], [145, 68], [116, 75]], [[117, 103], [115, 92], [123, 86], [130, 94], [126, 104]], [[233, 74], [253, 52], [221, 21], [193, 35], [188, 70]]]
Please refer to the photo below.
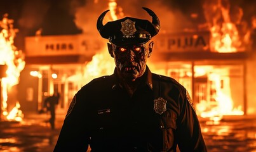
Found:
[[58, 92], [54, 92], [53, 96], [46, 98], [44, 101], [44, 108], [51, 113], [51, 118], [49, 120], [51, 129], [55, 129], [55, 105], [58, 105], [59, 99], [60, 94]]

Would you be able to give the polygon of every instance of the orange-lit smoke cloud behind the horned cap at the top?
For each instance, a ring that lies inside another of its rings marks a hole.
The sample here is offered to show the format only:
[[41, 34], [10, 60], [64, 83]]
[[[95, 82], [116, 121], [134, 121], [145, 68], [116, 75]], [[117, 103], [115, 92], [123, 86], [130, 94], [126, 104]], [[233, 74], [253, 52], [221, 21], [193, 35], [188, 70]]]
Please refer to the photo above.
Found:
[[[84, 6], [76, 9], [76, 25], [77, 27], [83, 29], [85, 34], [97, 34], [96, 23], [98, 16], [108, 8], [109, 1], [87, 1]], [[177, 28], [189, 27], [192, 25], [191, 22], [187, 20], [187, 16], [182, 13], [179, 9], [173, 9], [170, 4], [166, 4], [165, 1], [153, 1], [153, 0], [131, 0], [131, 1], [116, 1], [118, 9], [123, 11], [124, 16], [132, 16], [135, 18], [142, 18], [147, 20], [152, 20], [151, 16], [142, 9], [142, 7], [147, 7], [152, 9], [158, 15], [161, 22], [161, 31], [175, 31]], [[118, 10], [117, 10], [118, 11]], [[118, 18], [120, 19], [120, 18]], [[111, 17], [109, 13], [104, 18], [104, 23], [109, 22]]]

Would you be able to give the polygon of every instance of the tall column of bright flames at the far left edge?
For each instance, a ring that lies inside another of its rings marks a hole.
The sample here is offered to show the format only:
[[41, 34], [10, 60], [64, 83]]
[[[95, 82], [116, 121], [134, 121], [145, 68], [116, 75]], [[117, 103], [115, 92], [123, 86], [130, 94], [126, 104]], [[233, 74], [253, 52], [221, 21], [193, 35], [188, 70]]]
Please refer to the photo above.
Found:
[[23, 113], [17, 99], [17, 84], [24, 69], [24, 53], [14, 45], [17, 29], [8, 14], [0, 21], [0, 120], [21, 121]]

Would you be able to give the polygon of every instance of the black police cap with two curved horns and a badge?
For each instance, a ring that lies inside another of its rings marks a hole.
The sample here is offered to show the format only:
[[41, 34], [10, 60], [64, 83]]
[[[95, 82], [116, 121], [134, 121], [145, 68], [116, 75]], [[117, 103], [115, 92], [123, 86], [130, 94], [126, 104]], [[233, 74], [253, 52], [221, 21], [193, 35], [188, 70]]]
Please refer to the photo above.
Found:
[[154, 35], [158, 34], [160, 22], [158, 16], [149, 8], [143, 8], [149, 15], [152, 16], [152, 22], [138, 18], [125, 17], [120, 20], [107, 22], [102, 24], [105, 14], [109, 11], [104, 11], [98, 17], [97, 29], [100, 35], [109, 42], [116, 45], [125, 44], [144, 44], [149, 41]]

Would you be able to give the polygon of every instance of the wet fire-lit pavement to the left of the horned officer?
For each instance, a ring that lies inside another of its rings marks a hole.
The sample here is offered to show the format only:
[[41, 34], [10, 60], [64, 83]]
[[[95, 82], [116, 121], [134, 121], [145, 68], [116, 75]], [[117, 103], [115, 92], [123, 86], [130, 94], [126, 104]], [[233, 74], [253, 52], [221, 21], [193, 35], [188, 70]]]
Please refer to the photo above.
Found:
[[56, 115], [52, 130], [50, 113], [24, 113], [22, 122], [0, 122], [1, 152], [50, 152], [57, 142], [65, 114]]

